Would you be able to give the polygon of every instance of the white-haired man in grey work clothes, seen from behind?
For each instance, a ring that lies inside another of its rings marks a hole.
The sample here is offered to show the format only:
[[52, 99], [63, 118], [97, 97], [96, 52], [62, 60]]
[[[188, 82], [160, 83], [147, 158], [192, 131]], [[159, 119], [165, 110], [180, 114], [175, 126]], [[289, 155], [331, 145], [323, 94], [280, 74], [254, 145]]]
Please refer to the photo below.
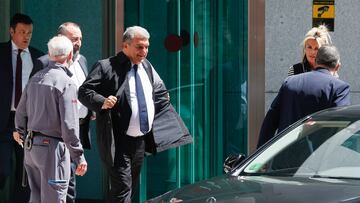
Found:
[[20, 99], [15, 124], [25, 141], [24, 166], [31, 189], [30, 202], [66, 202], [70, 156], [76, 174], [87, 163], [79, 140], [77, 91], [67, 69], [73, 57], [71, 41], [53, 37], [48, 43], [51, 62], [28, 82]]

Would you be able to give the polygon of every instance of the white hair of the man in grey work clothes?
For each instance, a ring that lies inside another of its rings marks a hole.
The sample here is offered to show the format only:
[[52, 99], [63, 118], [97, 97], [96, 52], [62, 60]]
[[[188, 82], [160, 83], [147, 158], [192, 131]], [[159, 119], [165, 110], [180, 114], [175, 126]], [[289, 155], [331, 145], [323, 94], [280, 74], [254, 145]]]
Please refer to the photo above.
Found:
[[73, 50], [71, 41], [65, 36], [55, 36], [48, 42], [50, 58], [65, 59]]

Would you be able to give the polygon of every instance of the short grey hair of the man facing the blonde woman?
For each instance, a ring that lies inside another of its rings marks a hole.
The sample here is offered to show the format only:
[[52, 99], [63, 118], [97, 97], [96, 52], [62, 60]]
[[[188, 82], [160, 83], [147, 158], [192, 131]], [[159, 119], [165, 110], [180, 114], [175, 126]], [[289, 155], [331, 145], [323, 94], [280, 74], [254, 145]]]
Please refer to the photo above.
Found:
[[340, 53], [333, 45], [324, 45], [319, 48], [315, 62], [317, 65], [325, 65], [333, 69], [340, 63]]

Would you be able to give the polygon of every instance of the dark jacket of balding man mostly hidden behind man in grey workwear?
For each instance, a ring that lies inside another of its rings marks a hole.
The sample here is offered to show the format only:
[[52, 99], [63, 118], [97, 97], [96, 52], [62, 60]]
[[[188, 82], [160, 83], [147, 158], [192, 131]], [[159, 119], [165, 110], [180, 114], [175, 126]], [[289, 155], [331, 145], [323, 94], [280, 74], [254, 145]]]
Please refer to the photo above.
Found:
[[[40, 69], [45, 68], [49, 65], [49, 55], [44, 55], [38, 58], [40, 63], [37, 63], [40, 65]], [[88, 75], [87, 70], [87, 60], [83, 55], [80, 55], [79, 58], [79, 64], [81, 66], [81, 69], [83, 70], [85, 76]], [[91, 148], [91, 135], [90, 135], [90, 117], [92, 115], [91, 111], [88, 111], [87, 116], [81, 120], [80, 122], [80, 141], [84, 149], [90, 149]]]

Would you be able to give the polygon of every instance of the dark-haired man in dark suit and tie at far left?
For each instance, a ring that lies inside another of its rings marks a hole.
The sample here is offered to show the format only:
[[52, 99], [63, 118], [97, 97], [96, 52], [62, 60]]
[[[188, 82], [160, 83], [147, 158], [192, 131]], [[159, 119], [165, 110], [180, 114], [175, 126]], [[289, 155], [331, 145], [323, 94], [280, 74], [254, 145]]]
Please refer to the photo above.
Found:
[[29, 47], [32, 31], [31, 18], [17, 13], [10, 21], [11, 40], [0, 43], [0, 190], [13, 171], [14, 151], [15, 182], [10, 184], [14, 186], [10, 190], [10, 202], [27, 202], [30, 195], [29, 187], [21, 187], [24, 151], [13, 140], [13, 132], [17, 102], [30, 76], [38, 71], [35, 68], [36, 58], [43, 55], [41, 51]]

